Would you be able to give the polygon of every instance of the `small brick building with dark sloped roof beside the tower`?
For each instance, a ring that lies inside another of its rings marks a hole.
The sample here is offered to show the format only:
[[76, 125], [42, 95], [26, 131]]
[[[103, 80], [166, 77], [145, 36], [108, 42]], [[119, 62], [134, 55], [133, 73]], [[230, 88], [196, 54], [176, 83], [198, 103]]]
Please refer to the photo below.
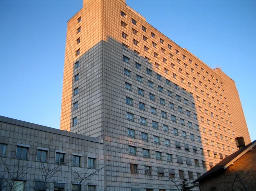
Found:
[[256, 190], [256, 140], [196, 179], [201, 191]]

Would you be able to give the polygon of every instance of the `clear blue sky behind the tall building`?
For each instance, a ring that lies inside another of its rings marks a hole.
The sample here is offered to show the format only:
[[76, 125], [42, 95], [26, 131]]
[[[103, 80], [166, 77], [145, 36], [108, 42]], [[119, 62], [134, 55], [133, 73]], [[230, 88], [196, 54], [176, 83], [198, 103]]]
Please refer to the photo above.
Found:
[[[180, 47], [235, 80], [255, 140], [256, 1], [126, 3]], [[0, 115], [60, 127], [67, 21], [81, 7], [82, 0], [0, 0]]]

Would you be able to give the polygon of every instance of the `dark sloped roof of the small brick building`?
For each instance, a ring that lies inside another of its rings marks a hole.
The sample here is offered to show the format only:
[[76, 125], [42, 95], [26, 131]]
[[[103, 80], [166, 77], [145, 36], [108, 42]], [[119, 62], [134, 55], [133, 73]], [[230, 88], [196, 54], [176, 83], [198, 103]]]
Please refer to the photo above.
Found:
[[209, 171], [205, 172], [201, 177], [196, 179], [194, 181], [194, 183], [201, 181], [203, 179], [207, 179], [213, 173], [217, 173], [217, 172], [225, 170], [226, 168], [229, 167], [230, 164], [232, 164], [233, 162], [238, 160], [240, 157], [242, 157], [242, 155], [247, 153], [251, 148], [255, 147], [255, 145], [256, 145], [256, 140], [247, 144], [245, 147], [234, 152], [233, 154], [229, 155], [228, 157], [224, 158], [222, 161], [220, 161], [218, 164], [216, 164], [213, 168], [211, 168]]

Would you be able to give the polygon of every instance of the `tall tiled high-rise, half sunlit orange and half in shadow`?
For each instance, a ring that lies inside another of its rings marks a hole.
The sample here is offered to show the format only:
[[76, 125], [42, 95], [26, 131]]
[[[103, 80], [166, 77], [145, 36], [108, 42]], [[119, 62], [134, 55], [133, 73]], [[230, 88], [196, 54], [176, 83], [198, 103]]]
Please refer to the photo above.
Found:
[[125, 0], [83, 0], [68, 21], [60, 128], [104, 139], [112, 191], [175, 190], [164, 174], [195, 180], [251, 142], [235, 82]]

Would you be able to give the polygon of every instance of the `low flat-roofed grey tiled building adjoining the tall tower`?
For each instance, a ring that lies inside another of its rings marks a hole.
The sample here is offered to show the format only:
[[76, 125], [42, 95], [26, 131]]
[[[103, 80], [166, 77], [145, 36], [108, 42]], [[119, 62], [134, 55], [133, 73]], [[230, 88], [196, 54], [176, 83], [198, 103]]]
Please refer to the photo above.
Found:
[[103, 140], [0, 116], [0, 190], [104, 190]]

